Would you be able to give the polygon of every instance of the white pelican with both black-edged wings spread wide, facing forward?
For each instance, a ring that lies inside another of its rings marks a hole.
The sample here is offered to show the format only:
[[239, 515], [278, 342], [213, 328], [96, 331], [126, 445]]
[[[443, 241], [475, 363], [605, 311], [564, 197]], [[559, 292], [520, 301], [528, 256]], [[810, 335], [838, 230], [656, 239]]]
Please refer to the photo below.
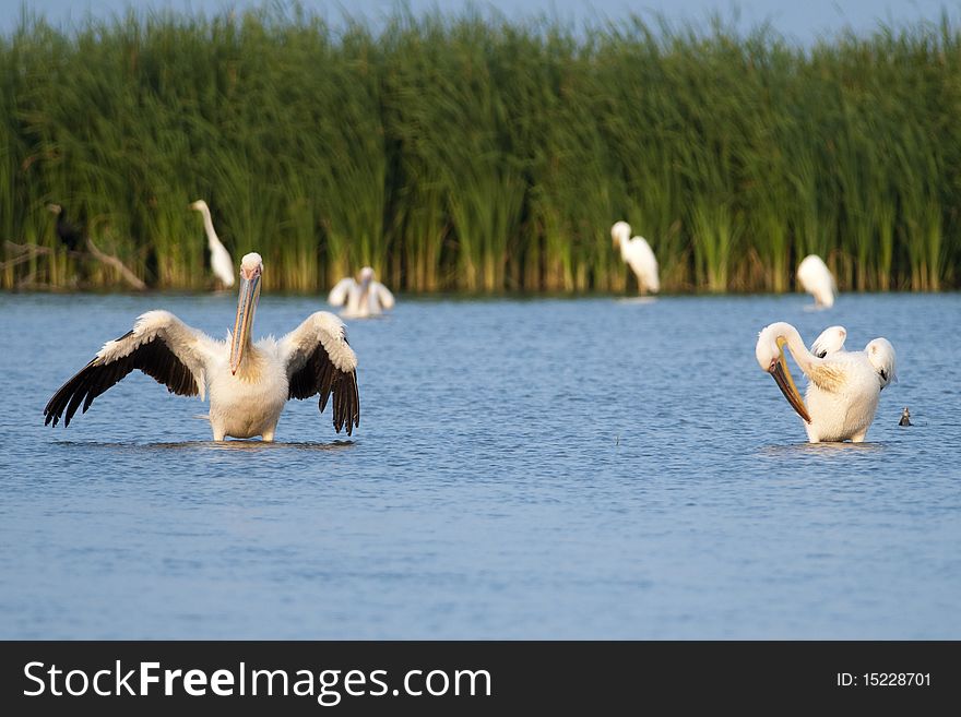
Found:
[[210, 392], [215, 441], [227, 435], [273, 441], [287, 399], [317, 394], [321, 411], [333, 395], [334, 429], [340, 433], [346, 427], [351, 435], [360, 425], [360, 395], [357, 357], [343, 322], [318, 311], [280, 340], [251, 343], [262, 274], [260, 254], [240, 262], [237, 319], [226, 342], [191, 328], [169, 311], [147, 311], [54, 394], [44, 409], [45, 423], [56, 426], [66, 411], [68, 426], [81, 404], [86, 413], [94, 398], [140, 369], [177, 395], [203, 399]]

